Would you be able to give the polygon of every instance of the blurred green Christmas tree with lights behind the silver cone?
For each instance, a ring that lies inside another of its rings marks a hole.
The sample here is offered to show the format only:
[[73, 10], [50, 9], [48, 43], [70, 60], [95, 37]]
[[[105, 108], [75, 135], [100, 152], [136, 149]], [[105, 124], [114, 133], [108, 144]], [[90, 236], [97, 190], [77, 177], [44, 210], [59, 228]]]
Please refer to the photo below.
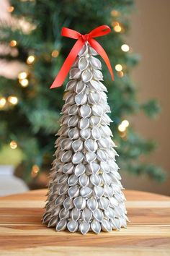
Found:
[[114, 82], [106, 67], [103, 73], [111, 107], [109, 116], [114, 120], [111, 128], [121, 155], [118, 164], [123, 171], [163, 180], [161, 168], [139, 161], [141, 155], [153, 150], [155, 143], [138, 135], [127, 120], [138, 111], [150, 117], [158, 112], [155, 101], [138, 102], [129, 76], [130, 69], [138, 63], [138, 56], [125, 43], [133, 1], [20, 0], [10, 3], [8, 11], [12, 13], [13, 22], [10, 26], [1, 22], [1, 44], [8, 48], [5, 54], [1, 51], [1, 59], [16, 60], [24, 66], [16, 79], [0, 77], [0, 143], [22, 150], [24, 179], [30, 182], [32, 176], [48, 171], [53, 159], [53, 135], [59, 128], [63, 88], [49, 90], [49, 85], [73, 45], [73, 40], [61, 37], [61, 27], [71, 27], [83, 34], [107, 24], [112, 27], [112, 33], [107, 38], [99, 38], [99, 43], [115, 67]]

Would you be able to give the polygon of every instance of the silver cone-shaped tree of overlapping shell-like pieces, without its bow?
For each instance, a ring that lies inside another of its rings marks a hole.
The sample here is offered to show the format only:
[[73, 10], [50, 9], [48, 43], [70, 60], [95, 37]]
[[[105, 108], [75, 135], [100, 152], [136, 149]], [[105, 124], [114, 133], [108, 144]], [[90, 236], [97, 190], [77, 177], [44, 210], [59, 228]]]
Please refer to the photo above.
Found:
[[43, 223], [57, 231], [99, 233], [126, 227], [125, 196], [109, 128], [112, 120], [97, 51], [86, 42], [63, 96]]

